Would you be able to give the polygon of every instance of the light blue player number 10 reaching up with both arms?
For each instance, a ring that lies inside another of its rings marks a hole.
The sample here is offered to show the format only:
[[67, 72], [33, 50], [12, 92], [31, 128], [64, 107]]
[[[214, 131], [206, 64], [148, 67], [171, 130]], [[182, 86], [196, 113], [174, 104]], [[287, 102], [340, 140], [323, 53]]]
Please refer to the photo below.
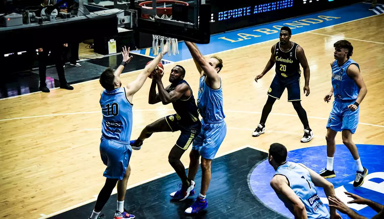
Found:
[[122, 51], [122, 63], [113, 71], [107, 68], [100, 75], [100, 84], [104, 88], [101, 92], [100, 106], [103, 113], [103, 122], [101, 123], [101, 160], [107, 166], [104, 171], [106, 181], [97, 198], [94, 210], [90, 219], [99, 218], [100, 211], [107, 203], [113, 189], [118, 185], [117, 210], [114, 219], [135, 218], [124, 209], [124, 197], [127, 189], [127, 182], [131, 173], [129, 159], [132, 149], [129, 145], [129, 138], [132, 132], [132, 99], [133, 95], [143, 86], [147, 77], [161, 61], [164, 54], [167, 53], [167, 47], [164, 47], [163, 53], [147, 65], [137, 76], [135, 81], [121, 87], [120, 74], [124, 66], [131, 61], [128, 50], [124, 46]]

